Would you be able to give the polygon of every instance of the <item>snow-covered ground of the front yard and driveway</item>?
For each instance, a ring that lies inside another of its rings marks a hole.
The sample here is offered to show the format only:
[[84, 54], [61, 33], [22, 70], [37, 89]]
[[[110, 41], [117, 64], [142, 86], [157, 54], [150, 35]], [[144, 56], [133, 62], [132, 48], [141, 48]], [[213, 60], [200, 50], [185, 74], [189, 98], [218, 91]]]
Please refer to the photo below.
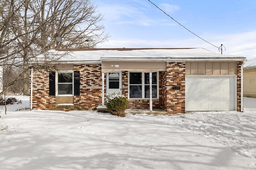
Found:
[[0, 113], [0, 170], [256, 169], [254, 98], [244, 97], [243, 113], [124, 118], [23, 110], [29, 97], [20, 99]]

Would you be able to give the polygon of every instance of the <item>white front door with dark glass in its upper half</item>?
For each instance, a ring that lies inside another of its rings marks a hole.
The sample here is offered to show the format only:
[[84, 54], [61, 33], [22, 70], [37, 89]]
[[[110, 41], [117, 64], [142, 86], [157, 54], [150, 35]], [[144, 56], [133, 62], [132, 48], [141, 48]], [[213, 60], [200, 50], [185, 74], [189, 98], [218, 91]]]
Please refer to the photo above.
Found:
[[122, 94], [122, 71], [111, 71], [106, 76], [106, 93]]

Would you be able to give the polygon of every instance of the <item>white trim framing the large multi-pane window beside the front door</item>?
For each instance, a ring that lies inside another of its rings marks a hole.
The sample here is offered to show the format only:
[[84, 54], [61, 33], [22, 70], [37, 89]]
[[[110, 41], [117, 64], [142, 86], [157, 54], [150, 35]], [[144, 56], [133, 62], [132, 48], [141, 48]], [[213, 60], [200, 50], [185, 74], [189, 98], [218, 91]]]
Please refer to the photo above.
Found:
[[[157, 95], [156, 98], [152, 99], [159, 99], [159, 71], [156, 72], [156, 91]], [[137, 85], [137, 84], [130, 84], [130, 73], [142, 73], [142, 98], [130, 98], [130, 85]], [[147, 85], [147, 84], [146, 84]], [[154, 84], [155, 85], [155, 84]], [[131, 100], [149, 100], [150, 98], [143, 98], [145, 96], [145, 72], [141, 71], [128, 71], [128, 99]]]

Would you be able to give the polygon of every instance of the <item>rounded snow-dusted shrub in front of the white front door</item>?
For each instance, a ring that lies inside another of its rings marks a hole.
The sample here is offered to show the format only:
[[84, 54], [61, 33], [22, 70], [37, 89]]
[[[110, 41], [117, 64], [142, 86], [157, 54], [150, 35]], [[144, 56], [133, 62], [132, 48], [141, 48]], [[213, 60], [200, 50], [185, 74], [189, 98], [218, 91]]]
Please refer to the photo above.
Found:
[[128, 102], [124, 95], [121, 95], [120, 93], [112, 93], [106, 95], [104, 101], [106, 103], [108, 111], [112, 115], [125, 117], [125, 110], [127, 108]]

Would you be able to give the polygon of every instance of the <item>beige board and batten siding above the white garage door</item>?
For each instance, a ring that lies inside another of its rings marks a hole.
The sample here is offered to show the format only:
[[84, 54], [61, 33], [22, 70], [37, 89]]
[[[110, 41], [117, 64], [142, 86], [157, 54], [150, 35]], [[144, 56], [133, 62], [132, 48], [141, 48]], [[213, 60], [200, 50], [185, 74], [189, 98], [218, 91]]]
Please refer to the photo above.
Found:
[[186, 75], [236, 75], [237, 63], [228, 61], [186, 62]]

